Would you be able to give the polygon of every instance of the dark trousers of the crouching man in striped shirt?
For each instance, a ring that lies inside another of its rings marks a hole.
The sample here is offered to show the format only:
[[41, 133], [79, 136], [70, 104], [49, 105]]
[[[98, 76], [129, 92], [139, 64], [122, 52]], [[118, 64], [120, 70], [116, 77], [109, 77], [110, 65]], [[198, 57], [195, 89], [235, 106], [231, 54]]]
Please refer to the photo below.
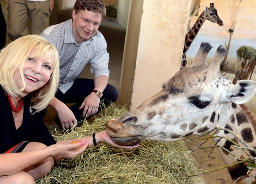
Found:
[[[69, 109], [74, 113], [77, 121], [83, 121], [84, 117], [82, 117], [82, 114], [84, 109], [79, 109], [79, 107], [83, 103], [84, 98], [90, 95], [93, 89], [94, 80], [78, 78], [74, 81], [72, 87], [70, 87], [67, 92], [63, 93], [60, 90], [58, 90], [55, 97], [64, 103], [75, 103], [74, 105], [69, 107]], [[112, 85], [108, 84], [105, 90], [103, 91], [103, 96], [101, 97], [101, 102], [104, 105], [100, 104], [98, 112], [103, 110], [104, 106], [107, 107], [110, 105], [110, 103], [115, 102], [117, 100], [117, 97], [117, 89]]]

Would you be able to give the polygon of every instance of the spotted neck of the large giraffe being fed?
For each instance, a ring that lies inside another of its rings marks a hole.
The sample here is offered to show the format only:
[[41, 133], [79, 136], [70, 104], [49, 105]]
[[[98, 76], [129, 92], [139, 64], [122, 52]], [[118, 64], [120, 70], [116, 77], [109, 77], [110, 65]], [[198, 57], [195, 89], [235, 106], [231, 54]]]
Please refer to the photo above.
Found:
[[[218, 123], [219, 125], [217, 125], [217, 127], [228, 128], [235, 135], [239, 136], [239, 138], [242, 138], [243, 141], [249, 144], [252, 148], [256, 148], [256, 135], [254, 128], [252, 127], [250, 121], [248, 120], [240, 106], [232, 103], [231, 107], [224, 107], [224, 109], [222, 109], [222, 112], [225, 112], [225, 115], [220, 115]], [[238, 139], [235, 138], [234, 135], [232, 135], [231, 133], [220, 130], [216, 135], [229, 138], [235, 143], [238, 143], [241, 147], [245, 147], [245, 145], [240, 143]], [[230, 152], [234, 153], [236, 158], [248, 158], [248, 155], [245, 154], [244, 151], [235, 148], [233, 150], [230, 149], [231, 142], [229, 142], [225, 138], [214, 138], [214, 140], [219, 146], [222, 146]], [[219, 148], [219, 153], [225, 165], [230, 165], [237, 161], [233, 155], [224, 151], [222, 148]], [[256, 156], [256, 153], [250, 151], [249, 153], [254, 157]], [[235, 180], [240, 176], [246, 176], [248, 168], [246, 166], [246, 163], [242, 163], [228, 167], [228, 171], [231, 178]]]

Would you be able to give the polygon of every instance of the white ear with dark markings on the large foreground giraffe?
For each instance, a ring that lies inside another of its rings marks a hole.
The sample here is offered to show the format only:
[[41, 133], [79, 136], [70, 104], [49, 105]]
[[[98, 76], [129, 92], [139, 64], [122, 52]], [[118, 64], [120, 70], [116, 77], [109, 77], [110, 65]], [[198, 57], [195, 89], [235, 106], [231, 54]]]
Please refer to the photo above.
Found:
[[249, 102], [256, 95], [256, 82], [251, 80], [240, 80], [236, 85], [230, 87], [230, 101], [236, 104]]

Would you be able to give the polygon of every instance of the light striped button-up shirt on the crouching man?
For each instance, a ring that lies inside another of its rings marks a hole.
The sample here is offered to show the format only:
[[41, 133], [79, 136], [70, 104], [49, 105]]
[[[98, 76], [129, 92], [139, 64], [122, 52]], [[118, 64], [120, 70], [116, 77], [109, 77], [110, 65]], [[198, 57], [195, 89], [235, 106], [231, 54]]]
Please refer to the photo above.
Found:
[[51, 42], [59, 52], [59, 90], [63, 93], [69, 88], [83, 71], [86, 64], [91, 64], [94, 77], [109, 77], [107, 42], [100, 31], [79, 46], [75, 43], [72, 30], [72, 19], [57, 25], [49, 26], [41, 36]]

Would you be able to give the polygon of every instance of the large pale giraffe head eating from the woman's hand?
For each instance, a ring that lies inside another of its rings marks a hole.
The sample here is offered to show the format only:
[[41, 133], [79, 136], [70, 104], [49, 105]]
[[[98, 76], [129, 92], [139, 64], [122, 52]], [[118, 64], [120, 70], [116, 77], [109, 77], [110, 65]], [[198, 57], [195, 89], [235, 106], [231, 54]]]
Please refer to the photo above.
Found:
[[219, 120], [227, 116], [233, 103], [245, 103], [256, 94], [256, 82], [232, 84], [219, 71], [226, 49], [219, 46], [213, 61], [207, 64], [211, 48], [203, 42], [192, 65], [165, 82], [159, 93], [121, 118], [109, 120], [106, 128], [113, 140], [120, 145], [137, 144], [144, 138], [175, 141], [214, 127], [224, 128], [226, 122]]

